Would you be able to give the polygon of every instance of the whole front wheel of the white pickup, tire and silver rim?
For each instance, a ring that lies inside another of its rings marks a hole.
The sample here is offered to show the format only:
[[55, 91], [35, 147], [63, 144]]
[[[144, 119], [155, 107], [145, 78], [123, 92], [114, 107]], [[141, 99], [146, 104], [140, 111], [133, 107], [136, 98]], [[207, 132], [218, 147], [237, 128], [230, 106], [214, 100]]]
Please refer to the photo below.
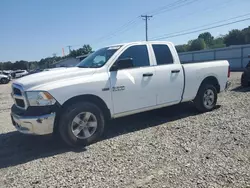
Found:
[[95, 104], [80, 102], [61, 115], [59, 132], [70, 146], [86, 146], [99, 139], [104, 131], [104, 116]]

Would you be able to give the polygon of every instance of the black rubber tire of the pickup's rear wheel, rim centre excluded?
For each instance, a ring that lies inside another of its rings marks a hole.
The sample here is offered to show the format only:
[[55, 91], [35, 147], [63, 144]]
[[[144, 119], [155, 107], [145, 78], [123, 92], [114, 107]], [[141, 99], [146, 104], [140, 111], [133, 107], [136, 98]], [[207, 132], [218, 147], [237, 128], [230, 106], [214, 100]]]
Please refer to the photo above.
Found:
[[[212, 104], [209, 106], [206, 105], [205, 101], [204, 101], [205, 93], [207, 91], [212, 91], [213, 95], [214, 95], [214, 100], [213, 100]], [[208, 83], [202, 84], [199, 88], [199, 91], [198, 91], [197, 96], [194, 100], [194, 103], [195, 103], [195, 106], [199, 112], [204, 113], [204, 112], [212, 111], [215, 108], [216, 103], [217, 103], [217, 90], [216, 90], [216, 88], [213, 85], [208, 84]]]

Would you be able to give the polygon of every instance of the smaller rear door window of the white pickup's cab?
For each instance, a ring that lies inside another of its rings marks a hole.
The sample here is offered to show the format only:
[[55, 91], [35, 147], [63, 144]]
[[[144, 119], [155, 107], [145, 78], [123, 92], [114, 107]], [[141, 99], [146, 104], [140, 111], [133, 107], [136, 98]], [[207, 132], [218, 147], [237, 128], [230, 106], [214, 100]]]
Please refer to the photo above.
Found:
[[157, 65], [173, 64], [173, 56], [169, 47], [165, 44], [153, 44], [152, 45]]

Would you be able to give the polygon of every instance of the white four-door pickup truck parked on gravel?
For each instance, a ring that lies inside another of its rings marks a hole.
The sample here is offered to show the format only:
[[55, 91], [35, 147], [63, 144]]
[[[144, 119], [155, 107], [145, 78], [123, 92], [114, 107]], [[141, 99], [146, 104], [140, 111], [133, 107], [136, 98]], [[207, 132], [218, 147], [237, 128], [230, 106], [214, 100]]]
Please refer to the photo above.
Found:
[[180, 63], [169, 42], [133, 42], [101, 48], [76, 67], [41, 72], [12, 84], [11, 117], [22, 133], [59, 132], [87, 145], [108, 119], [193, 101], [214, 109], [230, 75], [227, 61]]

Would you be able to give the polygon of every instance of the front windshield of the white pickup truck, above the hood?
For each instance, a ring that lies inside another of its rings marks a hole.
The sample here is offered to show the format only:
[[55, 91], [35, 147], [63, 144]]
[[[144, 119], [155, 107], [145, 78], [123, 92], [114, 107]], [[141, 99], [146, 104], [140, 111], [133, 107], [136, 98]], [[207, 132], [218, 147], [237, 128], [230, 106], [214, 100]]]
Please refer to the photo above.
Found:
[[82, 60], [77, 67], [81, 68], [99, 68], [107, 63], [107, 61], [114, 55], [114, 53], [121, 46], [113, 46], [101, 48]]

